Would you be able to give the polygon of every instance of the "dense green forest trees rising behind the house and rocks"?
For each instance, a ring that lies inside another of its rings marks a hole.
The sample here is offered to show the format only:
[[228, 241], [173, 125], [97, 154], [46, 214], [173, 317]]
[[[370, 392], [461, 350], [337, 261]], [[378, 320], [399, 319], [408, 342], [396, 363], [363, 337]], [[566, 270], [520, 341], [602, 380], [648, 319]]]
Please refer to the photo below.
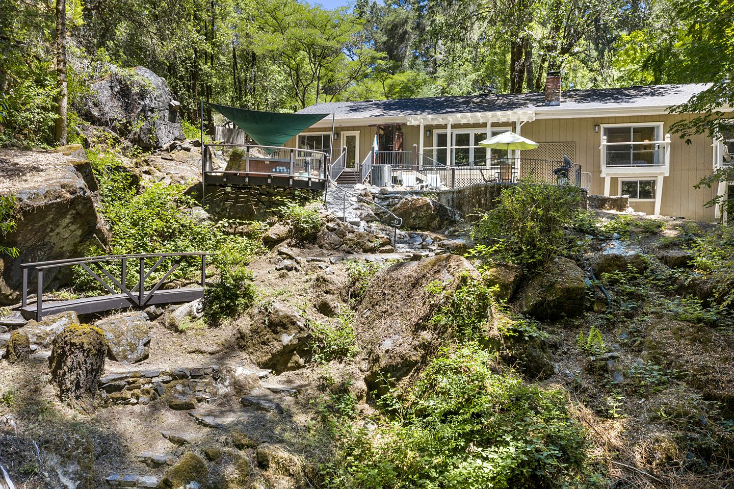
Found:
[[[733, 105], [730, 0], [68, 0], [70, 139], [79, 100], [109, 63], [163, 76], [184, 117], [203, 98], [293, 111], [318, 101], [713, 82], [677, 130], [721, 134]], [[51, 144], [62, 70], [58, 10], [0, 5], [0, 144]], [[208, 109], [207, 109], [208, 110]], [[211, 128], [211, 112], [205, 114]]]

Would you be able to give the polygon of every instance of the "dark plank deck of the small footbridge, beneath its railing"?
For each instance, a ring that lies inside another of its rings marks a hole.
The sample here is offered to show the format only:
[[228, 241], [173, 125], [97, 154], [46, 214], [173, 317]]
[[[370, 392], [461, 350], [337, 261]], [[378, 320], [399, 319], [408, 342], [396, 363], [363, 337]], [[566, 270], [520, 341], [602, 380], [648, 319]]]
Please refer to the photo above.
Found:
[[[144, 297], [150, 292], [145, 291]], [[189, 287], [186, 289], [156, 290], [142, 307], [155, 304], [188, 303], [192, 300], [204, 297], [204, 289], [201, 287]], [[58, 314], [66, 311], [74, 311], [76, 314], [90, 314], [111, 309], [122, 309], [138, 307], [137, 302], [131, 300], [127, 294], [103, 295], [100, 297], [82, 297], [73, 300], [43, 301], [41, 316]], [[26, 319], [37, 319], [36, 304], [29, 303], [21, 308], [21, 314]]]

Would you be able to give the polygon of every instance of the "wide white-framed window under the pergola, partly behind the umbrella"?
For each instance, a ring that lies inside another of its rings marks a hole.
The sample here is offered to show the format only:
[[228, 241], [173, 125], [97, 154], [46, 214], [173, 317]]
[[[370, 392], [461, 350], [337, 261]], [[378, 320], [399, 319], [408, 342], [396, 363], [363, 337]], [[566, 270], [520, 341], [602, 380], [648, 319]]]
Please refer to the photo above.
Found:
[[[492, 136], [509, 131], [510, 128], [492, 128]], [[487, 128], [469, 128], [451, 130], [451, 164], [457, 166], [485, 166], [488, 162], [507, 157], [506, 150], [482, 148], [479, 142], [487, 139]], [[433, 131], [433, 159], [447, 164], [448, 131]]]

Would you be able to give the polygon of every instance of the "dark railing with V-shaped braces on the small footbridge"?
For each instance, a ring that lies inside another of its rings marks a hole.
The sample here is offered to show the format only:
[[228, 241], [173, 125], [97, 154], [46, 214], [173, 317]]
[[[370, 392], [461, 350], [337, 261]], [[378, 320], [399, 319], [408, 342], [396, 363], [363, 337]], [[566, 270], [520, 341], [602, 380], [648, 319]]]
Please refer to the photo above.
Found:
[[[183, 261], [186, 256], [200, 256], [201, 257], [201, 286], [206, 286], [206, 256], [210, 253], [203, 251], [192, 251], [184, 253], [134, 253], [128, 255], [107, 255], [107, 256], [90, 256], [87, 258], [67, 258], [64, 260], [53, 260], [53, 261], [34, 261], [31, 263], [21, 264], [23, 269], [23, 290], [21, 294], [21, 308], [25, 308], [28, 305], [28, 272], [30, 269], [35, 269], [37, 272], [37, 294], [36, 294], [36, 319], [41, 319], [43, 316], [43, 271], [51, 268], [59, 267], [71, 267], [74, 265], [81, 266], [86, 270], [92, 278], [95, 278], [102, 286], [110, 292], [114, 293], [114, 289], [105, 280], [103, 280], [97, 272], [87, 267], [87, 264], [96, 263], [101, 261], [122, 261], [120, 280], [117, 280], [112, 274], [99, 265], [101, 274], [104, 275], [112, 285], [120, 289], [123, 294], [126, 294], [133, 303], [142, 306], [148, 303], [150, 297], [163, 285], [164, 281], [173, 273]], [[175, 262], [170, 269], [158, 280], [155, 286], [153, 286], [148, 293], [145, 293], [145, 280], [159, 267], [165, 258], [180, 257], [181, 260]], [[148, 272], [145, 271], [145, 258], [158, 258], [156, 264], [151, 267]], [[128, 259], [137, 259], [139, 261], [139, 280], [137, 286], [133, 289], [127, 289], [126, 287], [126, 275], [127, 275], [127, 262]]]

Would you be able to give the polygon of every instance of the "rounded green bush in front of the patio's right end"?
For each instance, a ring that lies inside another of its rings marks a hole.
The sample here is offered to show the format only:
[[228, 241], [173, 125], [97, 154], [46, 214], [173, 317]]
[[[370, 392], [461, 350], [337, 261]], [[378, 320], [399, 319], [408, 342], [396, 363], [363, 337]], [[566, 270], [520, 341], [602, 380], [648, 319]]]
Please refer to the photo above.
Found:
[[571, 186], [523, 181], [504, 189], [495, 209], [472, 229], [473, 256], [533, 269], [570, 250], [566, 230], [579, 213], [581, 194]]

